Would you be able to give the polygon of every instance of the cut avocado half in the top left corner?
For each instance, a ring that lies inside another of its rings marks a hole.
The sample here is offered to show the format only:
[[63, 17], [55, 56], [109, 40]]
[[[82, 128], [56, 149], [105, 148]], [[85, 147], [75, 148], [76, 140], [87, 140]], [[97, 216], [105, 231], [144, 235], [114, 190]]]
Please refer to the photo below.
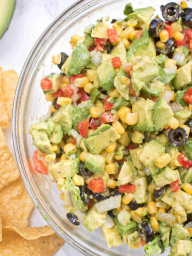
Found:
[[16, 0], [0, 0], [0, 38], [9, 28], [15, 5]]

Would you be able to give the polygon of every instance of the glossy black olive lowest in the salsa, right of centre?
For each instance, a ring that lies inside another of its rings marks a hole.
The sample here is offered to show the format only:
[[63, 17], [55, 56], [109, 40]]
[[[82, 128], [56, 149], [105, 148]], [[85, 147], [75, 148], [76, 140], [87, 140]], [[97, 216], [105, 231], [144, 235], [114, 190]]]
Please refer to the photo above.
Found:
[[145, 243], [148, 243], [155, 238], [153, 228], [151, 228], [150, 224], [147, 221], [140, 222], [137, 228], [140, 238]]

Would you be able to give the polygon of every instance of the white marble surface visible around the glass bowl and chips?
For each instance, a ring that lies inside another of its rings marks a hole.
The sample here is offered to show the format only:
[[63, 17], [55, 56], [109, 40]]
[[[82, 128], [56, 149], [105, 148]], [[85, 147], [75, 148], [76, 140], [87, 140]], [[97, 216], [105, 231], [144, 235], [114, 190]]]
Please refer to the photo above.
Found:
[[[31, 48], [44, 29], [75, 0], [17, 0], [17, 6], [9, 30], [0, 41], [0, 66], [21, 72]], [[4, 130], [10, 150], [14, 155], [11, 126]], [[29, 225], [44, 226], [46, 222], [34, 209], [30, 215]], [[81, 256], [67, 243], [55, 256]]]

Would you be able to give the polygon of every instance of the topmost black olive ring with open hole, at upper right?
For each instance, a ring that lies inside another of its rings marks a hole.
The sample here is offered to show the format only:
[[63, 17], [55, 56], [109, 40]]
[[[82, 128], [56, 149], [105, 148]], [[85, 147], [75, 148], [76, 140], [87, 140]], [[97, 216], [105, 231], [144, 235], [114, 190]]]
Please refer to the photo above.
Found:
[[168, 3], [161, 5], [160, 9], [162, 11], [162, 16], [166, 21], [176, 21], [181, 15], [181, 7], [176, 3]]

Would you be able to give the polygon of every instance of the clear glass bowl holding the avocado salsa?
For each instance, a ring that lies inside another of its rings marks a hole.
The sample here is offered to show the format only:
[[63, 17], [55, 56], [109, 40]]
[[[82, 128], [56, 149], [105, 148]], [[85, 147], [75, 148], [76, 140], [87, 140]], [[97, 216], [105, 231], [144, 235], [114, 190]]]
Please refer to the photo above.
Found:
[[29, 196], [55, 232], [84, 255], [139, 256], [144, 252], [130, 250], [125, 244], [109, 249], [102, 238], [101, 229], [91, 233], [83, 225], [71, 225], [66, 218], [63, 201], [55, 183], [50, 182], [45, 175], [33, 171], [32, 155], [35, 147], [28, 131], [29, 126], [45, 115], [50, 106], [50, 102], [45, 101], [45, 95], [39, 85], [45, 75], [54, 71], [59, 73], [57, 66], [52, 64], [52, 55], [62, 51], [70, 53], [70, 37], [74, 34], [83, 35], [84, 27], [95, 23], [99, 18], [109, 17], [111, 20], [123, 17], [127, 2], [132, 2], [134, 8], [154, 6], [158, 10], [156, 14], [160, 14], [159, 6], [170, 1], [81, 0], [71, 5], [47, 27], [34, 45], [22, 69], [14, 99], [14, 150]]

